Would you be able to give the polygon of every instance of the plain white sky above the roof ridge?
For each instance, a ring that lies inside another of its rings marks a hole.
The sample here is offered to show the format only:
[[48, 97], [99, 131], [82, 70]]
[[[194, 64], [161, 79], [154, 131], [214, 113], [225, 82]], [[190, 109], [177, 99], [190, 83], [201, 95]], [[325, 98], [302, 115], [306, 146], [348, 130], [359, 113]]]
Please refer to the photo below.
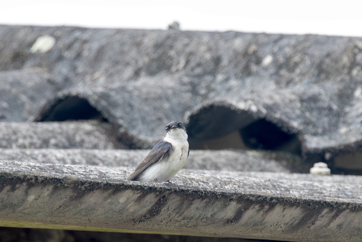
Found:
[[0, 24], [327, 34], [362, 37], [362, 1], [11, 0]]

